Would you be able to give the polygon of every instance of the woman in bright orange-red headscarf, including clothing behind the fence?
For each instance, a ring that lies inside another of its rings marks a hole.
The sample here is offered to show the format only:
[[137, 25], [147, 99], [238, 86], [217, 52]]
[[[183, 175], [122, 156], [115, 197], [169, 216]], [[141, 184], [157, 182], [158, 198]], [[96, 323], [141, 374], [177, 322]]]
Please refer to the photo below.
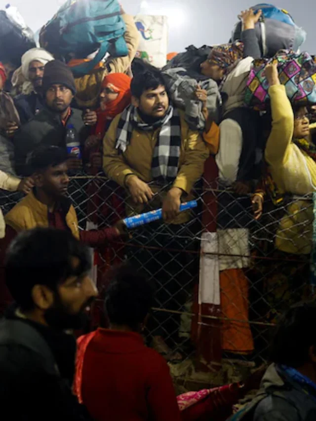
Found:
[[[102, 170], [102, 145], [103, 138], [113, 118], [122, 113], [131, 101], [130, 93], [131, 78], [123, 73], [107, 75], [101, 85], [100, 105], [96, 113], [97, 124], [85, 143], [85, 156], [90, 164], [89, 173], [96, 175]], [[105, 182], [103, 178], [95, 178], [89, 183], [87, 189], [90, 197], [87, 213], [89, 221], [99, 226], [106, 222], [107, 225], [116, 223], [124, 216], [124, 189], [112, 181]], [[102, 290], [103, 278], [111, 265], [120, 262], [122, 259], [122, 246], [114, 245], [112, 248], [105, 248], [102, 254], [102, 262], [96, 261], [98, 265], [98, 287]], [[98, 254], [95, 254], [99, 257]], [[101, 269], [101, 270], [100, 270]], [[98, 324], [94, 315], [94, 323]]]

